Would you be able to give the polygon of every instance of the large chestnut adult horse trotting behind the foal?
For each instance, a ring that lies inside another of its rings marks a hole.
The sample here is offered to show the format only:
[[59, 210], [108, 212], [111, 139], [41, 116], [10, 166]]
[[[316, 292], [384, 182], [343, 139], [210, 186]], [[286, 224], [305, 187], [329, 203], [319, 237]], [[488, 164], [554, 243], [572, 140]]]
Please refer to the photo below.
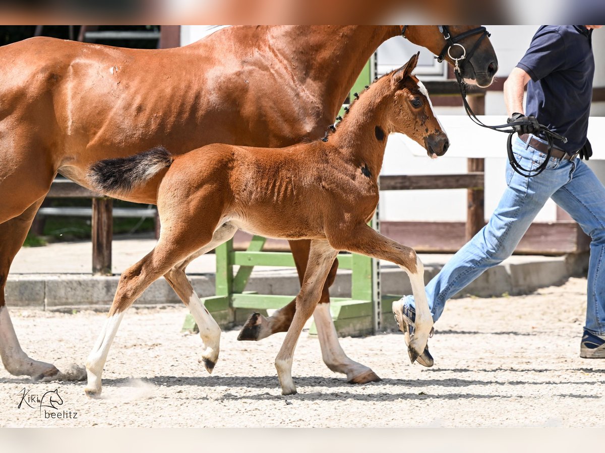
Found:
[[[61, 376], [53, 365], [22, 351], [4, 300], [10, 263], [57, 172], [87, 186], [91, 162], [159, 144], [178, 155], [209, 143], [281, 147], [321, 137], [365, 61], [401, 30], [231, 27], [169, 50], [49, 38], [0, 48], [0, 355], [5, 368], [34, 379]], [[409, 26], [406, 37], [433, 53], [445, 42], [437, 27]], [[488, 40], [469, 63], [465, 78], [489, 85], [497, 63]], [[135, 190], [127, 198], [147, 203], [154, 197]], [[309, 242], [297, 244], [293, 252], [302, 277]], [[321, 301], [329, 301], [327, 288]], [[280, 323], [289, 325], [291, 312], [292, 307], [281, 312], [283, 319], [276, 318], [269, 334], [284, 330]], [[339, 349], [330, 335], [326, 347]], [[328, 366], [350, 381], [376, 378], [344, 353]]]

